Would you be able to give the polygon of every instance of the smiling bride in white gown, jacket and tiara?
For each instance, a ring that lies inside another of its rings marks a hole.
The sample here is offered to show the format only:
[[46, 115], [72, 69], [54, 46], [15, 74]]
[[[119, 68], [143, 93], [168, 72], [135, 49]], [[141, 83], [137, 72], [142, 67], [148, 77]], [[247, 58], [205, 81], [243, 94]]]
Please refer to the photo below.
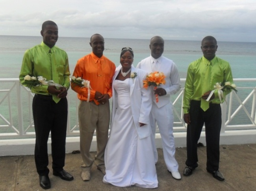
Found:
[[143, 88], [147, 73], [134, 68], [133, 51], [123, 48], [113, 77], [112, 120], [105, 149], [104, 183], [114, 186], [158, 187], [150, 139], [151, 88]]

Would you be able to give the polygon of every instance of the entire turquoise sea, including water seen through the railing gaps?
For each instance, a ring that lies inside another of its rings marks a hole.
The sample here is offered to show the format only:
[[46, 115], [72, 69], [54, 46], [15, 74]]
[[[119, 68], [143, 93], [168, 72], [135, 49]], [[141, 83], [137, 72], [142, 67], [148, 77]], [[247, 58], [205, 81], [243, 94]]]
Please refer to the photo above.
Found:
[[[72, 75], [74, 67], [79, 58], [87, 55], [91, 52], [89, 45], [90, 38], [72, 38], [72, 37], [59, 37], [56, 45], [61, 49], [65, 50], [69, 56], [70, 73]], [[0, 78], [18, 78], [20, 67], [22, 64], [22, 58], [26, 49], [33, 47], [34, 45], [42, 42], [41, 36], [0, 36]], [[117, 39], [117, 38], [105, 38], [105, 50], [104, 55], [112, 60], [115, 65], [119, 65], [120, 51], [122, 47], [131, 47], [134, 50], [134, 65], [150, 56], [149, 39]], [[165, 40], [165, 47], [163, 56], [173, 60], [179, 70], [180, 78], [186, 78], [187, 67], [189, 63], [200, 58], [202, 52], [200, 49], [200, 41], [186, 41], [186, 40]], [[216, 55], [224, 60], [227, 60], [231, 67], [233, 78], [256, 78], [256, 42], [218, 42], [218, 49]], [[4, 84], [8, 85], [9, 84]], [[256, 87], [256, 84], [252, 82], [239, 82], [237, 86], [240, 87]], [[2, 86], [2, 85], [1, 85]], [[184, 87], [184, 84], [182, 84]], [[0, 87], [5, 89], [5, 87]], [[71, 91], [71, 90], [70, 90]], [[239, 89], [238, 95], [243, 100], [252, 89]], [[0, 95], [0, 100], [5, 94]], [[14, 93], [13, 96], [16, 94]], [[76, 96], [72, 92], [72, 96]], [[174, 101], [176, 95], [171, 97]], [[23, 107], [27, 104], [27, 95], [22, 92], [22, 98], [24, 98]], [[26, 98], [26, 99], [25, 99]], [[73, 126], [76, 120], [76, 99], [70, 99], [70, 125]], [[11, 99], [12, 111], [13, 111], [13, 125], [17, 127], [18, 116], [17, 116], [17, 100]], [[234, 108], [237, 108], [234, 104]], [[248, 111], [251, 111], [252, 101], [250, 100], [246, 107]], [[181, 101], [176, 104], [177, 110], [180, 110]], [[234, 110], [234, 109], [233, 109]], [[0, 105], [0, 115], [9, 118], [8, 103], [5, 100]], [[244, 111], [238, 113], [239, 117], [232, 121], [232, 124], [250, 124]], [[28, 112], [23, 112], [24, 126], [29, 125]], [[175, 119], [176, 118], [176, 119]], [[174, 120], [177, 121], [177, 116]], [[0, 119], [0, 126], [6, 124]], [[33, 129], [29, 130], [33, 131]], [[0, 132], [13, 132], [9, 128], [2, 128]]]

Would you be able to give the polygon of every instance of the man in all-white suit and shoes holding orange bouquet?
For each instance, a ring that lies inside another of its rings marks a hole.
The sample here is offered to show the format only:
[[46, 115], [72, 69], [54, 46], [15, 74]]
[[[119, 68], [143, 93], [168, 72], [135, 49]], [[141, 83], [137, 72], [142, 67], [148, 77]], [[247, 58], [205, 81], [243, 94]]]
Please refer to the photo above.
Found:
[[[178, 69], [172, 60], [162, 56], [164, 49], [164, 40], [160, 36], [154, 36], [150, 40], [151, 55], [141, 60], [137, 68], [143, 69], [148, 73], [158, 71], [163, 72], [165, 84], [161, 84], [155, 91], [152, 91], [153, 105], [150, 113], [150, 124], [152, 130], [152, 140], [155, 143], [156, 123], [160, 131], [163, 145], [163, 157], [167, 170], [174, 179], [180, 180], [178, 172], [178, 163], [175, 159], [175, 144], [173, 136], [173, 104], [170, 96], [180, 90], [180, 76]], [[156, 102], [156, 94], [159, 101]], [[158, 161], [158, 153], [154, 144], [155, 163]]]

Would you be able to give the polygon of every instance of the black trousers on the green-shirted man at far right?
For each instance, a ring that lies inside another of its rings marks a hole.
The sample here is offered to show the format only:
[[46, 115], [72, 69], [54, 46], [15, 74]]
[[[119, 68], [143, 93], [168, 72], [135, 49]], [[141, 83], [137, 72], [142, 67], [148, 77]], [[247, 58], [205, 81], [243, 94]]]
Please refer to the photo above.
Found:
[[197, 143], [205, 123], [206, 152], [208, 171], [219, 169], [219, 139], [221, 132], [221, 106], [210, 104], [209, 109], [203, 111], [200, 101], [192, 100], [190, 104], [191, 123], [187, 126], [187, 160], [186, 165], [196, 168], [198, 166]]

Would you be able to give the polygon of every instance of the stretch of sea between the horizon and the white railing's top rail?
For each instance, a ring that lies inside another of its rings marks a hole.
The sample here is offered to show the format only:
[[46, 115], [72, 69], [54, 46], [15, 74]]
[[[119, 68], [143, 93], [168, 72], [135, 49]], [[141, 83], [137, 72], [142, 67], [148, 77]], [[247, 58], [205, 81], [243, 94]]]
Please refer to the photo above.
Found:
[[[70, 73], [79, 58], [91, 53], [90, 38], [59, 37], [56, 45], [69, 56]], [[18, 78], [22, 58], [26, 49], [42, 42], [41, 36], [0, 36], [0, 78]], [[104, 55], [119, 65], [122, 47], [134, 50], [134, 65], [150, 56], [149, 39], [105, 38]], [[256, 43], [255, 42], [218, 42], [216, 55], [227, 60], [234, 78], [255, 78]], [[165, 40], [163, 56], [173, 60], [180, 77], [186, 78], [189, 63], [200, 58], [200, 41]]]

